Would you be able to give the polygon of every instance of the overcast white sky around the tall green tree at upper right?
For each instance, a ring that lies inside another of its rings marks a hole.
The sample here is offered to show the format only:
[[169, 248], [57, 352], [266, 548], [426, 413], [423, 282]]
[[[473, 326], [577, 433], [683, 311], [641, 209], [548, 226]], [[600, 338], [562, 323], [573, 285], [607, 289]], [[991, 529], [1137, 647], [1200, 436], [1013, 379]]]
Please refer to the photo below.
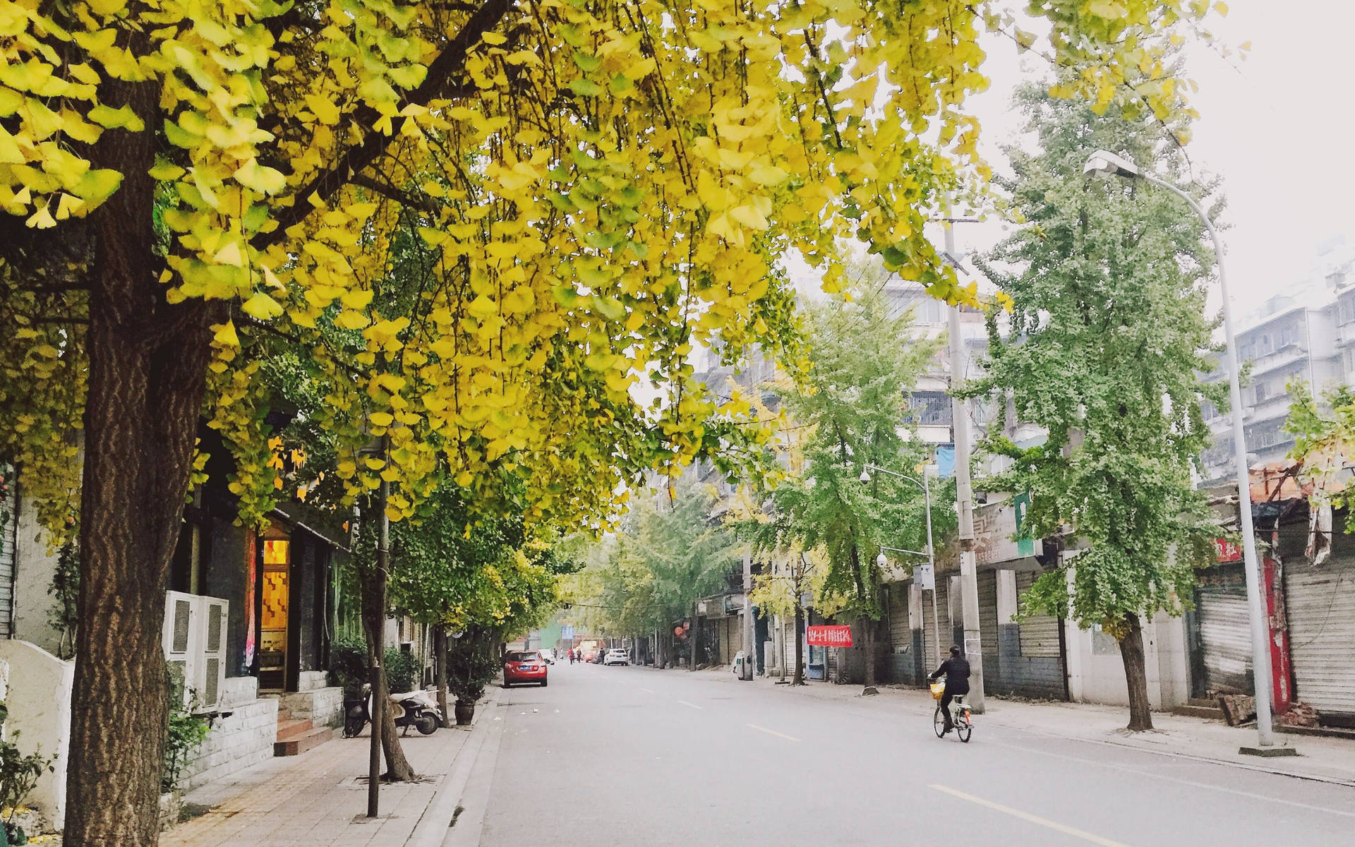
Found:
[[[1355, 244], [1355, 3], [1230, 0], [1228, 16], [1211, 24], [1218, 41], [1249, 41], [1251, 51], [1225, 60], [1209, 46], [1188, 46], [1201, 118], [1187, 150], [1198, 169], [1224, 178], [1229, 283], [1245, 313], [1312, 278], [1325, 245], [1343, 236]], [[996, 38], [986, 47], [992, 88], [970, 104], [984, 125], [985, 156], [1001, 167], [999, 146], [1020, 125], [1011, 91], [1042, 60], [1018, 58]], [[966, 252], [1001, 234], [996, 224], [957, 228]]]

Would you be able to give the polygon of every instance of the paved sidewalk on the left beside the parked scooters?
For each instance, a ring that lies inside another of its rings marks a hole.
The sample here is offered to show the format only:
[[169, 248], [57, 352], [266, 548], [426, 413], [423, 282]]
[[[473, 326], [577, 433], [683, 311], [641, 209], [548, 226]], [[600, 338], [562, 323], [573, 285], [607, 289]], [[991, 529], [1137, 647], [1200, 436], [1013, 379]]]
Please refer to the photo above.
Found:
[[[160, 836], [163, 847], [218, 847], [271, 844], [272, 847], [398, 847], [442, 842], [465, 787], [462, 758], [474, 758], [484, 716], [495, 711], [497, 688], [476, 707], [469, 729], [439, 729], [431, 736], [412, 732], [401, 747], [419, 779], [381, 786], [381, 814], [366, 817], [370, 735], [336, 739], [301, 755], [270, 759], [194, 791], [186, 802], [210, 806]], [[382, 763], [385, 764], [385, 763]], [[459, 785], [458, 785], [459, 783]], [[450, 797], [457, 794], [457, 797]], [[439, 820], [431, 820], [438, 817]], [[424, 820], [430, 819], [430, 820]]]

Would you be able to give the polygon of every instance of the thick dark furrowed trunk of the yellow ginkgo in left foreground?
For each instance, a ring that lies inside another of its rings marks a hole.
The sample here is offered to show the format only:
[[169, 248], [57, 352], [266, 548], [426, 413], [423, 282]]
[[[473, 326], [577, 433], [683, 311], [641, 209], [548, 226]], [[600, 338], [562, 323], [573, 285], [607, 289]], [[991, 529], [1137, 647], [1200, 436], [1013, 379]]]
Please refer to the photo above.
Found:
[[[134, 53], [148, 35], [123, 33]], [[159, 126], [152, 83], [110, 83], [103, 102], [131, 106]], [[118, 168], [122, 188], [91, 215], [80, 500], [79, 611], [75, 637], [68, 844], [144, 847], [159, 836], [167, 726], [161, 648], [169, 562], [211, 356], [209, 325], [225, 306], [164, 301], [152, 248], [154, 133], [106, 130], [95, 167]]]

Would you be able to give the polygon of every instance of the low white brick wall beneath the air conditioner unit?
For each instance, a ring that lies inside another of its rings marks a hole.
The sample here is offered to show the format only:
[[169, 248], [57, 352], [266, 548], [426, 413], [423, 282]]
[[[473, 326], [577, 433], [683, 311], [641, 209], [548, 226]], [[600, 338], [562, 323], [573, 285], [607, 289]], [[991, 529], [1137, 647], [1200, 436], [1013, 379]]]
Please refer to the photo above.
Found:
[[222, 711], [211, 732], [180, 774], [180, 786], [192, 790], [272, 758], [278, 740], [278, 701], [259, 697], [253, 676], [228, 678], [222, 687]]

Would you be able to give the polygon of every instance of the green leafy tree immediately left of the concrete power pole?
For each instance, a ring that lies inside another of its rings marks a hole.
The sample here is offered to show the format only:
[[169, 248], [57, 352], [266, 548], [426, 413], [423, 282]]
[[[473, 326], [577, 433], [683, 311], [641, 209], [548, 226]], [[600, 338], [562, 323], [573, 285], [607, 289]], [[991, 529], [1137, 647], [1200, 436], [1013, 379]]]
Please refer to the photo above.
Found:
[[[790, 426], [808, 431], [793, 449], [801, 454], [790, 462], [798, 472], [770, 492], [770, 519], [744, 522], [741, 533], [764, 553], [822, 549], [818, 606], [860, 622], [870, 686], [873, 622], [883, 611], [875, 554], [881, 545], [920, 549], [925, 510], [921, 491], [888, 474], [862, 485], [859, 476], [867, 462], [912, 476], [925, 459], [925, 449], [900, 431], [936, 343], [913, 336], [911, 314], [890, 314], [883, 270], [854, 271], [852, 298], [809, 309], [813, 367], [786, 397]], [[944, 501], [942, 492], [938, 497]], [[938, 534], [946, 514], [934, 515]]]

